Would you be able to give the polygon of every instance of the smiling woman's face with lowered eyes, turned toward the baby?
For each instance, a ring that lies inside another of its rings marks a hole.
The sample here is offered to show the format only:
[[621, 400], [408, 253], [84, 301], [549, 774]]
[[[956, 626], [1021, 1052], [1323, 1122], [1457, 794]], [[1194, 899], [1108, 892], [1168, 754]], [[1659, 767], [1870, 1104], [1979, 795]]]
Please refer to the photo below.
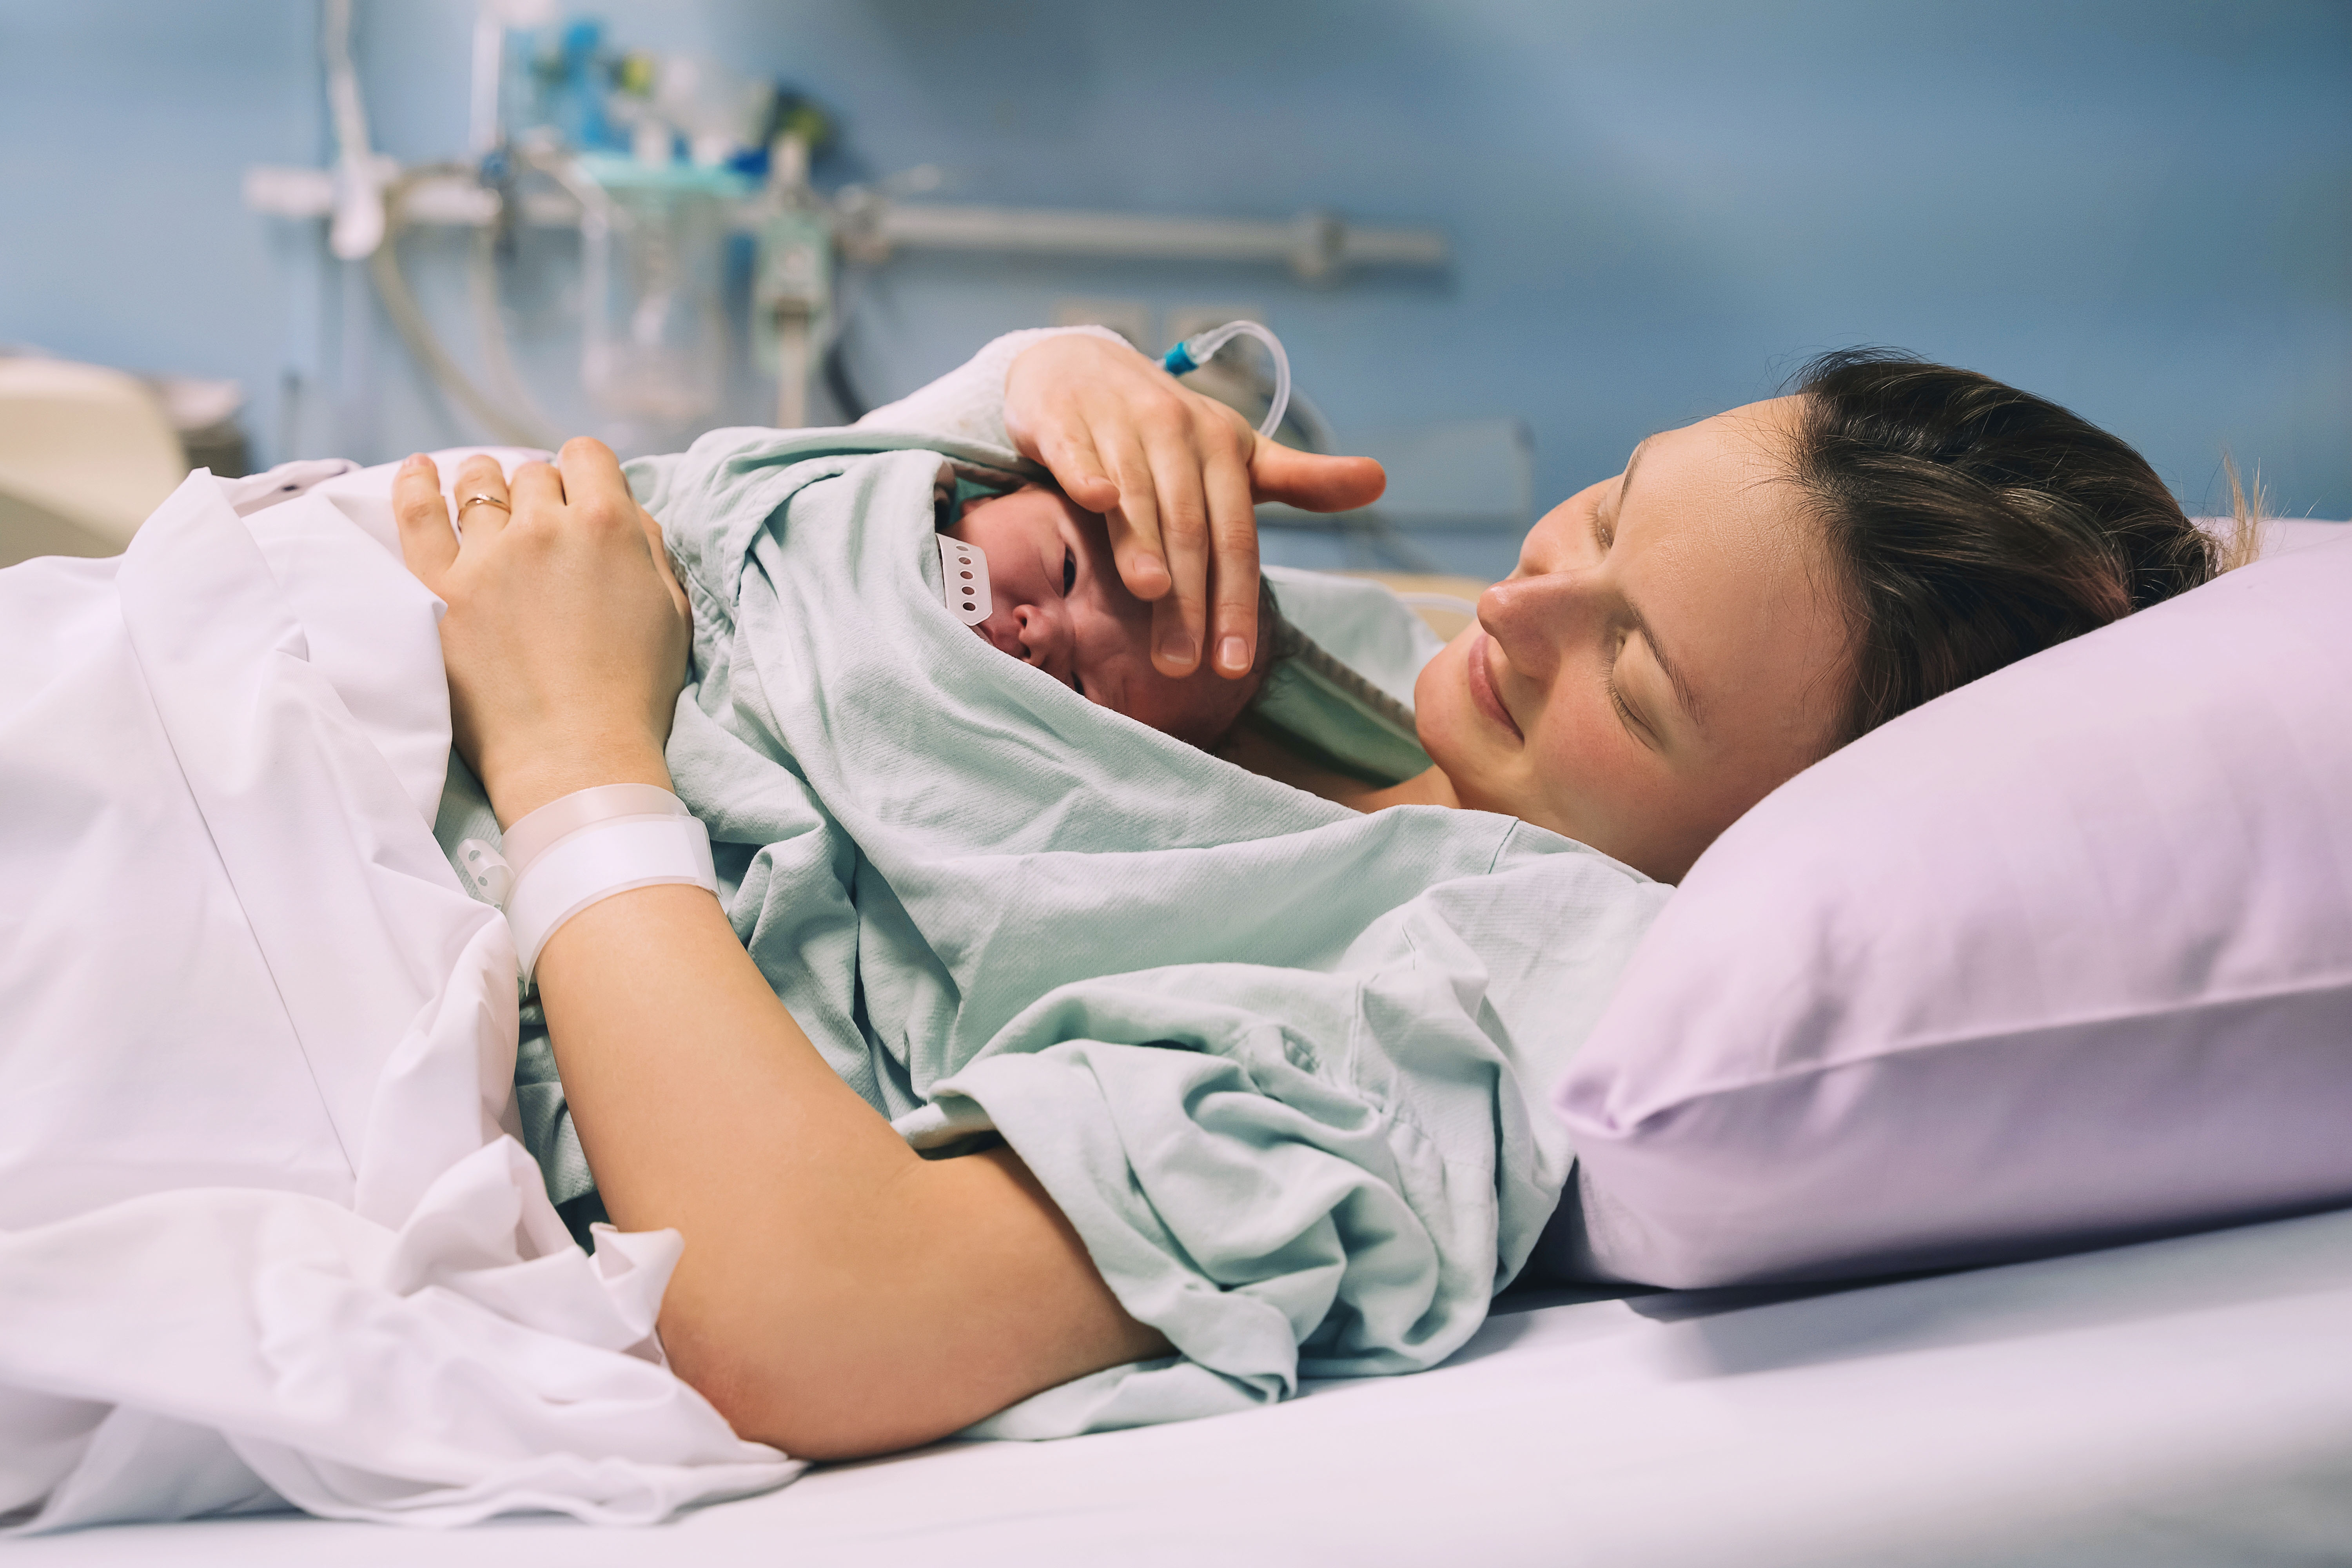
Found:
[[1661, 430], [1529, 531], [1414, 691], [1461, 804], [1679, 882], [1830, 750], [1851, 635], [1783, 477], [1795, 416], [1776, 397]]

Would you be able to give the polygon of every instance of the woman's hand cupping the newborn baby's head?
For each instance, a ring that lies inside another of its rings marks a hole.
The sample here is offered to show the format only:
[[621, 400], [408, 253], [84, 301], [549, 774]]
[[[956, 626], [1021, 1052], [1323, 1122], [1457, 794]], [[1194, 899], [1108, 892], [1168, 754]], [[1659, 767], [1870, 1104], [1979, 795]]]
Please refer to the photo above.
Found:
[[1258, 646], [1256, 501], [1343, 512], [1381, 498], [1371, 458], [1294, 451], [1185, 390], [1131, 348], [1044, 339], [1004, 374], [1004, 428], [1070, 501], [1110, 520], [1120, 576], [1152, 607], [1152, 665], [1190, 675], [1202, 646], [1240, 679]]

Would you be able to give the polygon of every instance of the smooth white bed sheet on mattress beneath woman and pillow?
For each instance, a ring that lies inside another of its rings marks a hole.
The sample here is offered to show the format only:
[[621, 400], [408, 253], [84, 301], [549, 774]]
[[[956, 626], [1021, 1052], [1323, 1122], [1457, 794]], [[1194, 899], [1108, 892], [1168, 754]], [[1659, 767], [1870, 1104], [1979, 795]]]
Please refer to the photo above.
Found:
[[647, 1530], [235, 1519], [9, 1547], [12, 1568], [2347, 1559], [2352, 1211], [1813, 1298], [1538, 1305], [1432, 1373], [828, 1467]]

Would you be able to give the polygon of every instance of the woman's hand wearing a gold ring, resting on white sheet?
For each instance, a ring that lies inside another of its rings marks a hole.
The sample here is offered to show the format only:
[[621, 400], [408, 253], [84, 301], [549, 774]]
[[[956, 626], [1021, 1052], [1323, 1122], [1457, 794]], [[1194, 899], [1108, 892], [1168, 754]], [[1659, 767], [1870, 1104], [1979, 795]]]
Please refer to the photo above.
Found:
[[456, 748], [499, 823], [590, 785], [668, 788], [687, 595], [619, 458], [602, 442], [564, 442], [553, 465], [517, 468], [508, 491], [496, 458], [475, 456], [456, 498], [463, 541], [430, 458], [412, 456], [393, 480], [400, 552], [449, 604]]

